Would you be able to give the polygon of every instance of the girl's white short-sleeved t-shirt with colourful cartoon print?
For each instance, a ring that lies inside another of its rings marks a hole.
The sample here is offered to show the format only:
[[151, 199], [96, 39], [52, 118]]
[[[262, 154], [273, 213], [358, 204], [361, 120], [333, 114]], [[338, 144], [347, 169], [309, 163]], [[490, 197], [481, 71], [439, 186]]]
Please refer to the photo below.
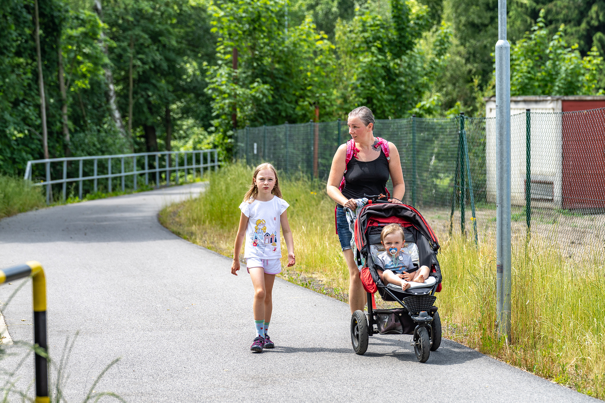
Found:
[[244, 257], [280, 259], [281, 214], [290, 205], [273, 196], [269, 201], [242, 202], [240, 210], [248, 218]]

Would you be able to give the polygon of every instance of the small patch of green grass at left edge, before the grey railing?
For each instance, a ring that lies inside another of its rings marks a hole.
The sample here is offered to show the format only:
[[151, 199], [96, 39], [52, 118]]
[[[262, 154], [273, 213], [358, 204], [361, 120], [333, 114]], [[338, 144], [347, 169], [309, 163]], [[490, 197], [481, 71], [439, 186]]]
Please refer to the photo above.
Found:
[[40, 187], [20, 178], [0, 175], [0, 218], [44, 206]]

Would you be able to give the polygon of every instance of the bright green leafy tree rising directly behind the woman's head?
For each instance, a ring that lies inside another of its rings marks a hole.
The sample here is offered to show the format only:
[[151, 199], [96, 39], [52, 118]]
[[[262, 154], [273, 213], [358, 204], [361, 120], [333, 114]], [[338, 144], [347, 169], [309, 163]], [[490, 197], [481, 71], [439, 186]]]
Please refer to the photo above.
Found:
[[366, 105], [379, 118], [399, 118], [431, 91], [445, 67], [450, 30], [434, 27], [431, 49], [419, 43], [431, 28], [428, 8], [416, 2], [391, 0], [390, 18], [370, 3], [356, 9], [350, 23], [336, 27], [341, 89], [346, 109]]

